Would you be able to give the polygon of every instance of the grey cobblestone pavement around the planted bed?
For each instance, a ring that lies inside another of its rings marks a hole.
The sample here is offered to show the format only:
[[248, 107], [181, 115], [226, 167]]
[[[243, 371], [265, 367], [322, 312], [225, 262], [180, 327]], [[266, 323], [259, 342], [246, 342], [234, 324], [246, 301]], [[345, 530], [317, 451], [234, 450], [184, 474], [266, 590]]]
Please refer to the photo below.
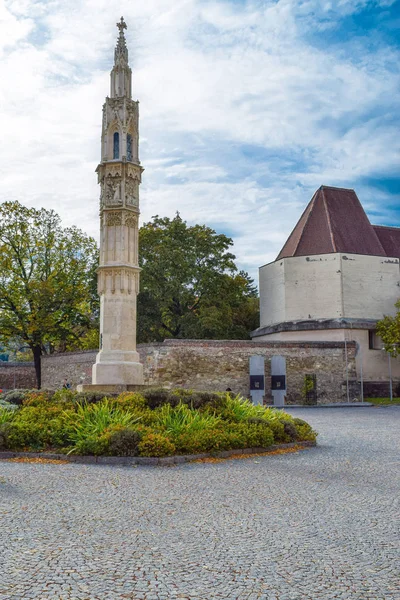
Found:
[[295, 414], [318, 447], [170, 468], [0, 462], [0, 600], [398, 600], [400, 408]]

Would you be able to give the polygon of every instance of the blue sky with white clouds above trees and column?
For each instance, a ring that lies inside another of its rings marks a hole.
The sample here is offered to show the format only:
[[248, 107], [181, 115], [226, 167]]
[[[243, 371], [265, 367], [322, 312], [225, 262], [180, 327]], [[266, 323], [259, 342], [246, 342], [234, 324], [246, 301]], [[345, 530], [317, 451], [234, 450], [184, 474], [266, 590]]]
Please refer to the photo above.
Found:
[[400, 2], [0, 2], [0, 201], [98, 238], [101, 107], [121, 14], [142, 220], [179, 210], [257, 280], [320, 185], [400, 225]]

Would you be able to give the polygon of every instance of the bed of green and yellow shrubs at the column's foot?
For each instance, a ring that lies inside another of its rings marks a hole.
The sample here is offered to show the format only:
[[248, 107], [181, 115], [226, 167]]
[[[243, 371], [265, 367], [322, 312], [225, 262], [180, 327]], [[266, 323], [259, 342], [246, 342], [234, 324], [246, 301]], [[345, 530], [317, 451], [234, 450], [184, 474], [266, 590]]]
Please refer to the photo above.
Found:
[[119, 396], [16, 390], [0, 397], [0, 450], [163, 457], [315, 441], [308, 423], [231, 393]]

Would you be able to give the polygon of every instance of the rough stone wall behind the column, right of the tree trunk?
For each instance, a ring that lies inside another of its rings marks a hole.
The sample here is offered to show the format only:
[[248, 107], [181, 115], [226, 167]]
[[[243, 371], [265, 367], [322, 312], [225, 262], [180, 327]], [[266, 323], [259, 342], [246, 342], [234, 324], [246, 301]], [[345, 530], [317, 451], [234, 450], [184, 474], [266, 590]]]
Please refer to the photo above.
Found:
[[[355, 344], [347, 344], [350, 400], [359, 397], [355, 371]], [[317, 376], [318, 403], [347, 399], [346, 359], [343, 342], [253, 342], [231, 340], [166, 340], [140, 344], [145, 383], [151, 386], [225, 390], [249, 394], [249, 358], [265, 357], [266, 390], [269, 394], [270, 359], [286, 357], [287, 402], [302, 403], [304, 375]], [[74, 352], [43, 357], [43, 387], [57, 388], [67, 378], [73, 386], [91, 383], [96, 352]]]

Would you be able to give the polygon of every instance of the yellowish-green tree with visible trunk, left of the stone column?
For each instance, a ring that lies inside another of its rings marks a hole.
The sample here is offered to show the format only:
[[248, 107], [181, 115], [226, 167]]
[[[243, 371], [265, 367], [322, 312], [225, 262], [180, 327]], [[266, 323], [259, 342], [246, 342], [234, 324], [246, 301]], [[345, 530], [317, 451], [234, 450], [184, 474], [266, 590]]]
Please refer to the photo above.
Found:
[[54, 211], [0, 205], [0, 341], [29, 346], [38, 388], [41, 355], [97, 327], [97, 264], [96, 242]]

